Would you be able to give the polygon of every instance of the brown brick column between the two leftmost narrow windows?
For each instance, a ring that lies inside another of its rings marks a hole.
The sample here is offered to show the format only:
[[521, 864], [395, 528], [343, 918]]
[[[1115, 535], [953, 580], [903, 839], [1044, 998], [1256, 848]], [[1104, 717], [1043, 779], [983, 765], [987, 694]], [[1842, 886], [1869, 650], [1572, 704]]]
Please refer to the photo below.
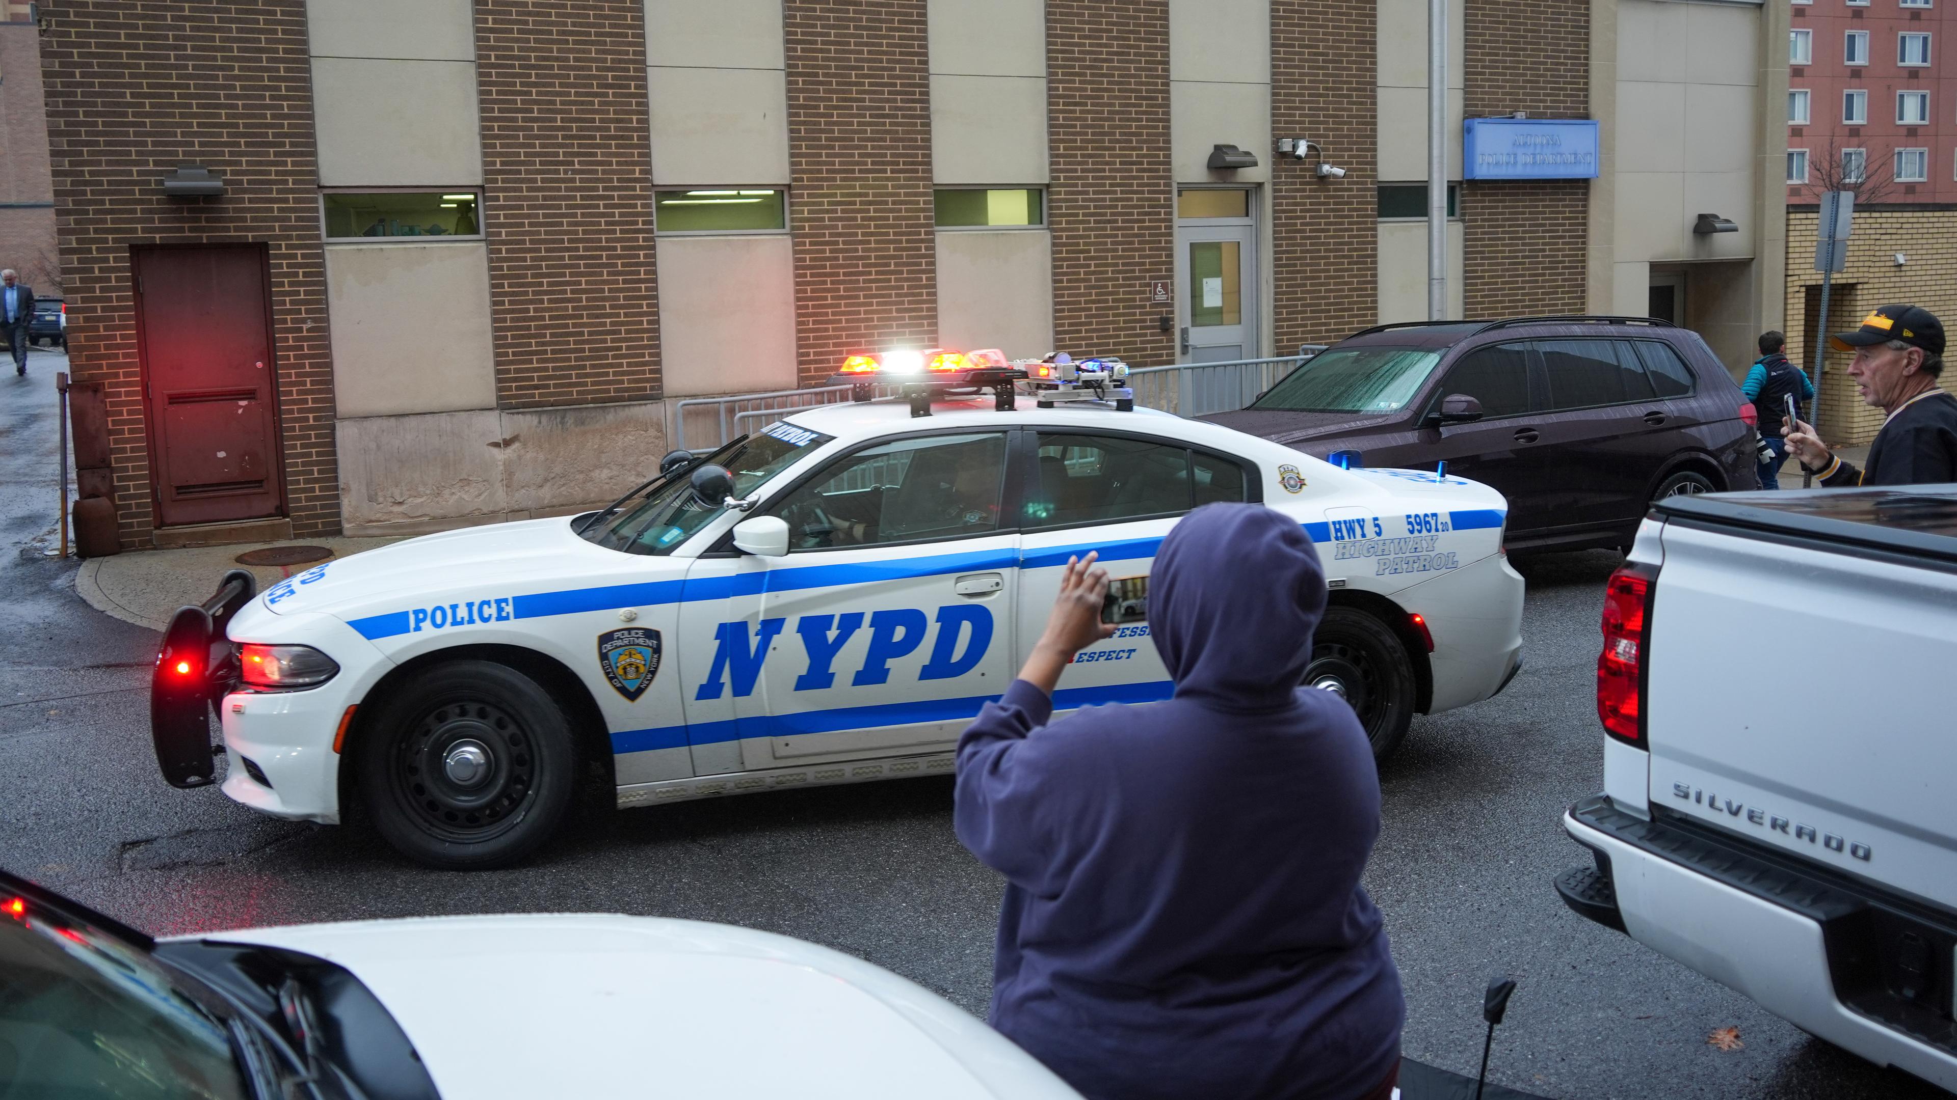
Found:
[[476, 0], [505, 409], [660, 395], [644, 0]]

